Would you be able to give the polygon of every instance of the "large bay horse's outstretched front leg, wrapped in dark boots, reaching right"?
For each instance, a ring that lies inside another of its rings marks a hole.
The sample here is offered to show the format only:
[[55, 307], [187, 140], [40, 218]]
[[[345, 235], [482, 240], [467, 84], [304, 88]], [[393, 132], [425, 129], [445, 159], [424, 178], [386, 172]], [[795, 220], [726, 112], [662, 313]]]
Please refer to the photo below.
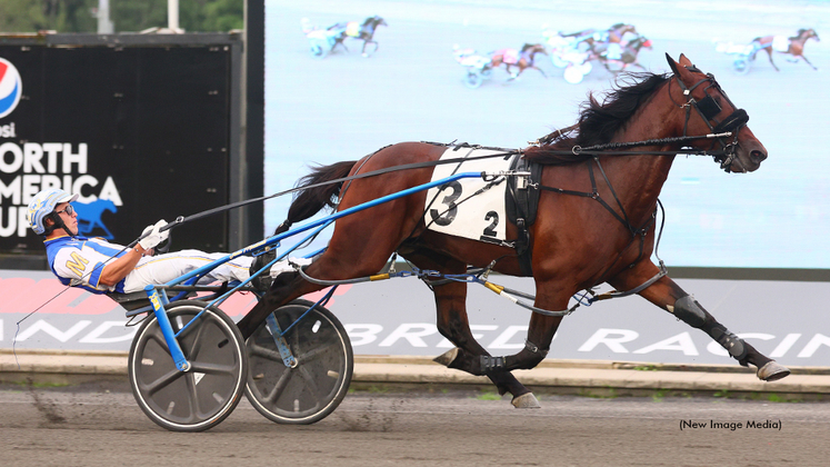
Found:
[[[651, 261], [641, 261], [638, 267], [626, 270], [608, 282], [619, 290], [630, 290], [658, 274], [658, 268]], [[687, 294], [668, 276], [640, 292], [640, 296], [671, 312], [687, 325], [700, 329], [723, 347], [729, 355], [742, 366], [753, 365], [758, 368], [758, 378], [774, 381], [790, 374], [790, 370], [771, 358], [756, 350], [743, 339], [739, 338], [726, 326], [718, 322], [712, 315]]]

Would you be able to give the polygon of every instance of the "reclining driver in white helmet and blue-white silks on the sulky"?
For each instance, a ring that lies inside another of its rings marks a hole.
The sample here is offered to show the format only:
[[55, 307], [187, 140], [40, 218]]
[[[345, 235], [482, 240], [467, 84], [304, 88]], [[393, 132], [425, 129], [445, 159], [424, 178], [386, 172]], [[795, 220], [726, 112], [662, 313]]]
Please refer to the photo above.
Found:
[[[153, 248], [164, 241], [169, 230], [160, 231], [167, 225], [159, 220], [148, 226], [144, 238], [133, 248], [110, 244], [102, 238], [86, 238], [78, 235], [78, 215], [71, 202], [78, 195], [60, 189], [47, 189], [34, 195], [26, 215], [27, 222], [36, 234], [44, 237], [49, 267], [64, 286], [81, 287], [93, 294], [141, 291], [144, 286], [167, 284], [193, 269], [227, 256], [223, 252], [207, 254], [199, 250], [153, 255]], [[199, 280], [199, 284], [213, 281], [244, 281], [251, 272], [261, 269], [274, 258], [273, 250], [257, 257], [241, 256], [227, 261]], [[308, 264], [310, 260], [291, 261]], [[276, 264], [277, 272], [288, 266], [288, 260]], [[289, 269], [290, 270], [290, 269]], [[267, 290], [272, 279], [268, 274], [254, 278], [251, 284], [259, 290]]]

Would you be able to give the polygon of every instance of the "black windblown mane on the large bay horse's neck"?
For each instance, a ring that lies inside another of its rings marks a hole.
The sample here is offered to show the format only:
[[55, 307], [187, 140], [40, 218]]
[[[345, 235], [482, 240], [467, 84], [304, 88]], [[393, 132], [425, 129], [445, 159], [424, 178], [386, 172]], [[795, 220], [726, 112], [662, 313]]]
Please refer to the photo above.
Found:
[[[588, 101], [580, 107], [577, 123], [539, 138], [539, 146], [529, 148], [524, 158], [554, 166], [590, 159], [591, 155], [573, 155], [570, 150], [574, 146], [587, 148], [610, 142], [640, 105], [668, 80], [668, 74], [650, 72], [621, 74], [601, 103], [589, 93]], [[562, 155], [562, 151], [568, 153]]]

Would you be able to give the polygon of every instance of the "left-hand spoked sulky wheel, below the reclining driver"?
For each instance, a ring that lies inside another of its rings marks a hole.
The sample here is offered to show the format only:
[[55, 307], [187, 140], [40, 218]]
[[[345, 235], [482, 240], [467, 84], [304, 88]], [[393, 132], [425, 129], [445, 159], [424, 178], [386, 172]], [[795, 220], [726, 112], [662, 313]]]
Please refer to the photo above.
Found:
[[[183, 300], [167, 307], [173, 331], [190, 322], [206, 302]], [[241, 399], [248, 368], [242, 335], [218, 308], [208, 308], [179, 337], [191, 367], [176, 368], [154, 317], [146, 320], [130, 347], [130, 387], [141, 410], [171, 431], [202, 431], [222, 421]]]

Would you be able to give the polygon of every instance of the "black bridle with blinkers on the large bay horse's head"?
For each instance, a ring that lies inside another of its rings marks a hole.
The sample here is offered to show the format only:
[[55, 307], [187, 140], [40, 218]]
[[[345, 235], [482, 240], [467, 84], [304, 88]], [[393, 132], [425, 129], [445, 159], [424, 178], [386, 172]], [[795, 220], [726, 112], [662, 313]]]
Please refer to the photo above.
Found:
[[[696, 67], [687, 67], [689, 71], [699, 72], [702, 73], [699, 69]], [[729, 171], [729, 166], [732, 165], [737, 157], [737, 149], [738, 149], [738, 132], [743, 128], [747, 122], [749, 121], [749, 115], [747, 115], [747, 111], [743, 109], [737, 109], [731, 100], [729, 100], [729, 97], [727, 97], [726, 92], [720, 88], [718, 85], [718, 81], [714, 80], [714, 74], [712, 73], [706, 73], [706, 78], [701, 79], [700, 81], [696, 82], [691, 88], [687, 88], [682, 80], [680, 80], [680, 77], [676, 76], [678, 86], [680, 86], [680, 89], [683, 91], [683, 96], [686, 96], [689, 100], [683, 105], [677, 105], [680, 108], [686, 108], [686, 122], [683, 123], [683, 136], [686, 136], [687, 128], [689, 126], [689, 119], [691, 118], [691, 109], [694, 109], [698, 115], [703, 119], [707, 127], [709, 127], [709, 130], [714, 133], [728, 133], [726, 137], [732, 137], [732, 140], [729, 141], [727, 138], [718, 138], [718, 142], [721, 146], [722, 153], [714, 156], [714, 160], [717, 162], [720, 162], [720, 168]], [[706, 93], [706, 97], [703, 99], [697, 100], [694, 99], [691, 93], [692, 91], [698, 88], [699, 86], [708, 83], [706, 88], [703, 88], [703, 93]], [[722, 108], [718, 103], [717, 100], [712, 96], [709, 95], [709, 89], [714, 88], [720, 95], [723, 97], [723, 99], [729, 102], [730, 106], [732, 106], [733, 109], [736, 109], [732, 113], [730, 113], [727, 118], [724, 118], [721, 121], [718, 121], [714, 117], [720, 113]], [[673, 99], [672, 99], [673, 100]], [[714, 122], [714, 126], [712, 126], [712, 122]]]

